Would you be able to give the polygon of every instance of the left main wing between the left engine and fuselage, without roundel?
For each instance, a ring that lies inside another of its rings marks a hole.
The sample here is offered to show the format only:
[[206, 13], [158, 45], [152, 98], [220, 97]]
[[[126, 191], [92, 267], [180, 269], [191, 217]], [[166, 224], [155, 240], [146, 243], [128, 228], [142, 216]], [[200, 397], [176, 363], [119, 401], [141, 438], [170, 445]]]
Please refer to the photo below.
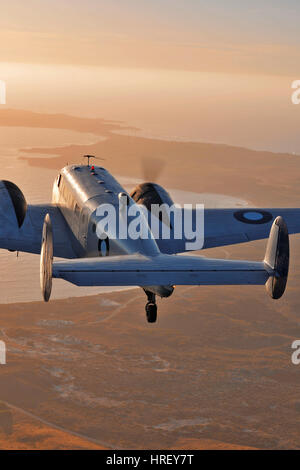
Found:
[[11, 251], [40, 253], [45, 215], [49, 213], [53, 222], [54, 256], [76, 258], [72, 248], [74, 236], [68, 228], [60, 210], [49, 205], [28, 205], [21, 227], [18, 226], [11, 201], [0, 206], [0, 248]]

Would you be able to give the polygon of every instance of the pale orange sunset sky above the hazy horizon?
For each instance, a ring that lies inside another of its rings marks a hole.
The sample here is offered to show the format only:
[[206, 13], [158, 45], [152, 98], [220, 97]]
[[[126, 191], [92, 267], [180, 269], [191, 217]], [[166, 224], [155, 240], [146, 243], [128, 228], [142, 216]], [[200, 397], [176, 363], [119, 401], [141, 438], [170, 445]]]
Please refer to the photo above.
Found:
[[293, 75], [298, 0], [1, 0], [1, 61]]

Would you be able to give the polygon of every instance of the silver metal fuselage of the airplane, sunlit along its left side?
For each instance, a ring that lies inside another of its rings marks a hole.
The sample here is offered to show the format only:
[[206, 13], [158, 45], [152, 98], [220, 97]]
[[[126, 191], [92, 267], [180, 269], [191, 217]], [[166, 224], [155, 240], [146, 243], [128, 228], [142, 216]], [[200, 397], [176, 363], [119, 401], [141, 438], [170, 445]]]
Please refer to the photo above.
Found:
[[[117, 256], [141, 253], [146, 256], [157, 256], [159, 248], [145, 218], [145, 224], [149, 230], [149, 236], [145, 239], [133, 240], [129, 237], [118, 238], [105, 231], [107, 240], [101, 240], [97, 234], [97, 209], [103, 204], [114, 206], [116, 228], [118, 230], [120, 196], [126, 195], [128, 204], [135, 202], [130, 198], [125, 189], [103, 167], [87, 165], [70, 165], [64, 167], [57, 176], [52, 193], [52, 203], [61, 211], [66, 223], [74, 235], [72, 246], [79, 258], [96, 256]], [[148, 290], [160, 296], [170, 295], [171, 286], [149, 286]]]

